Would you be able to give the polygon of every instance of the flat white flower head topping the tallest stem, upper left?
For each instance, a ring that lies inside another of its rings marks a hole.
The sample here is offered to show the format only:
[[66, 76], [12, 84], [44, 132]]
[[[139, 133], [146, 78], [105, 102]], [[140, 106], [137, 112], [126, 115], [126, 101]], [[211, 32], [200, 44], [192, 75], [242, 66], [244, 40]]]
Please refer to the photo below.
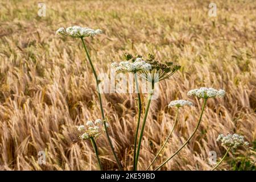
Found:
[[102, 31], [100, 29], [93, 30], [87, 27], [73, 26], [73, 27], [68, 27], [66, 29], [61, 27], [56, 31], [56, 34], [72, 36], [73, 38], [84, 38], [86, 36], [94, 36], [97, 34], [102, 34]]

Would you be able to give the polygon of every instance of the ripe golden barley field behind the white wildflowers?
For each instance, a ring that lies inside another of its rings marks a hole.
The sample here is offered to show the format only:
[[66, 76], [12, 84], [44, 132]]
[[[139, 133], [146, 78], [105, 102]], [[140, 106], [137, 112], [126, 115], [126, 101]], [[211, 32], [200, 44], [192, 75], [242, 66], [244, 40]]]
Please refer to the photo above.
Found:
[[[245, 136], [249, 147], [229, 152], [218, 170], [256, 169], [256, 3], [220, 1], [217, 16], [210, 1], [0, 1], [0, 169], [97, 170], [89, 141], [76, 126], [101, 118], [96, 83], [81, 42], [56, 36], [59, 27], [100, 28], [104, 34], [85, 38], [98, 73], [123, 53], [153, 53], [181, 69], [159, 84], [151, 101], [138, 170], [144, 170], [174, 125], [172, 100], [185, 99], [177, 127], [153, 164], [161, 164], [184, 143], [199, 119], [203, 100], [187, 96], [201, 86], [226, 90], [211, 98], [199, 130], [162, 170], [209, 170], [209, 152], [217, 160], [225, 148], [218, 134]], [[109, 134], [125, 170], [133, 169], [137, 94], [102, 94]], [[146, 94], [142, 94], [143, 108]], [[142, 110], [142, 114], [144, 109]], [[105, 135], [97, 139], [102, 167], [117, 170]], [[38, 163], [38, 152], [46, 164]]]

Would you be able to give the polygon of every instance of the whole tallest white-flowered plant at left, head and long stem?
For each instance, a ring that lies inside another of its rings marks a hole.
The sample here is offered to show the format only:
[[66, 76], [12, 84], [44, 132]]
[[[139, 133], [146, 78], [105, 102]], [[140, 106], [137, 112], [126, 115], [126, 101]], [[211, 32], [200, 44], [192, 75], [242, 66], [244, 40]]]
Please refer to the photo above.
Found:
[[61, 27], [61, 28], [59, 28], [59, 30], [56, 31], [56, 34], [57, 35], [64, 35], [64, 36], [70, 36], [72, 38], [80, 38], [81, 39], [82, 46], [84, 47], [85, 54], [86, 54], [87, 59], [89, 61], [90, 67], [92, 68], [92, 72], [93, 72], [93, 75], [94, 75], [94, 78], [95, 78], [95, 81], [96, 81], [98, 99], [100, 101], [101, 117], [102, 117], [103, 124], [104, 124], [104, 127], [105, 127], [106, 137], [108, 138], [108, 142], [109, 142], [110, 148], [111, 148], [111, 150], [113, 152], [115, 161], [117, 162], [118, 168], [119, 168], [119, 170], [122, 170], [121, 163], [119, 162], [119, 160], [117, 158], [117, 155], [115, 154], [114, 147], [113, 147], [112, 141], [111, 141], [111, 139], [109, 137], [109, 133], [108, 133], [107, 125], [106, 125], [106, 118], [105, 118], [104, 109], [103, 109], [103, 106], [102, 106], [101, 93], [100, 93], [100, 90], [98, 88], [98, 86], [100, 84], [100, 81], [98, 80], [98, 76], [97, 76], [97, 73], [96, 73], [96, 71], [94, 69], [92, 60], [90, 59], [90, 55], [89, 55], [88, 49], [87, 49], [87, 47], [86, 47], [86, 45], [84, 43], [84, 38], [92, 37], [92, 36], [95, 36], [95, 35], [98, 35], [98, 34], [102, 34], [102, 31], [100, 29], [93, 30], [93, 29], [87, 28], [87, 27], [73, 26], [73, 27], [68, 27], [66, 29]]

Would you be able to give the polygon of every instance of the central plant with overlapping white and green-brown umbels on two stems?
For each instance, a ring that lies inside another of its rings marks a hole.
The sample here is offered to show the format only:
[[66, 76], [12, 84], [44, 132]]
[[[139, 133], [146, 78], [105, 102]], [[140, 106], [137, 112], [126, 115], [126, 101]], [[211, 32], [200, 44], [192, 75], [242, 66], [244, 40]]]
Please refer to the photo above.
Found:
[[[140, 116], [141, 116], [141, 107], [139, 107], [139, 117], [138, 117], [137, 128], [135, 131], [135, 137], [134, 137], [133, 169], [134, 171], [136, 171], [138, 166], [139, 152], [141, 149], [141, 142], [142, 142], [144, 127], [146, 125], [146, 119], [147, 119], [147, 114], [150, 107], [151, 98], [154, 94], [155, 83], [165, 80], [170, 76], [172, 76], [177, 70], [180, 69], [180, 65], [175, 65], [170, 61], [166, 61], [165, 63], [160, 63], [159, 61], [155, 60], [155, 56], [151, 54], [148, 54], [147, 59], [143, 59], [141, 55], [133, 56], [126, 53], [125, 58], [126, 58], [126, 61], [122, 61], [120, 63], [112, 63], [112, 67], [115, 68], [116, 72], [122, 72], [122, 73], [133, 72], [135, 77], [135, 85], [137, 86], [137, 92], [139, 90], [137, 73], [139, 77], [151, 83], [151, 89], [148, 92], [147, 106], [146, 106], [144, 117], [143, 117], [143, 123], [141, 127], [141, 133], [139, 135], [138, 147], [137, 147], [138, 131], [139, 131], [139, 125], [140, 125]], [[138, 94], [138, 100], [139, 100], [139, 106], [141, 106], [141, 98], [139, 94]]]

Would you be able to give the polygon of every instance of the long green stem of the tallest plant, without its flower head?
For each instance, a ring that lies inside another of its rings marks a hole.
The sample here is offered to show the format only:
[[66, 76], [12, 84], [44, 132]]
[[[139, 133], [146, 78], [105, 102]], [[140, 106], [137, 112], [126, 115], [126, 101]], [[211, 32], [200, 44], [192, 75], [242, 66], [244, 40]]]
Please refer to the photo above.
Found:
[[84, 50], [85, 50], [85, 53], [86, 53], [86, 56], [89, 60], [89, 63], [90, 63], [90, 67], [92, 67], [92, 71], [93, 71], [93, 75], [95, 77], [95, 80], [96, 80], [96, 84], [97, 84], [97, 92], [98, 92], [98, 99], [100, 100], [100, 108], [101, 108], [101, 116], [102, 116], [102, 119], [103, 119], [103, 123], [104, 123], [104, 128], [105, 128], [105, 131], [106, 131], [106, 136], [108, 138], [108, 142], [109, 142], [109, 145], [110, 145], [110, 148], [113, 152], [113, 155], [114, 155], [114, 158], [115, 158], [115, 161], [117, 162], [117, 165], [118, 165], [118, 168], [119, 170], [122, 170], [122, 166], [121, 166], [121, 163], [119, 162], [118, 158], [117, 158], [117, 155], [115, 154], [115, 151], [114, 151], [114, 147], [113, 147], [113, 144], [111, 142], [111, 139], [109, 137], [109, 133], [108, 133], [108, 128], [106, 127], [106, 123], [105, 123], [105, 115], [104, 115], [104, 110], [103, 110], [103, 106], [102, 106], [102, 101], [101, 101], [101, 93], [100, 93], [100, 90], [98, 89], [98, 85], [100, 84], [100, 82], [98, 81], [98, 76], [97, 76], [97, 73], [93, 67], [93, 64], [92, 64], [92, 60], [90, 59], [90, 55], [88, 53], [88, 50], [85, 46], [85, 43], [84, 43], [84, 39], [81, 38], [82, 40], [82, 46], [84, 47]]

